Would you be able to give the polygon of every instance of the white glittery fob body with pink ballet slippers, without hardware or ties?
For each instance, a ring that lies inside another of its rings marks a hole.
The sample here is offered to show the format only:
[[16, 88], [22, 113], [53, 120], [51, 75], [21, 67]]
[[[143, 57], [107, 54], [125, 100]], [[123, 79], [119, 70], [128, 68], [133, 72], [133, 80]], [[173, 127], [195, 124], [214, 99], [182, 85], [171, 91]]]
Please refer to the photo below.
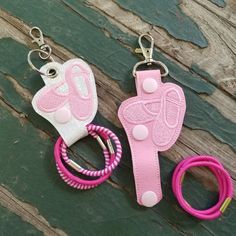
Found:
[[67, 146], [88, 135], [86, 125], [97, 112], [95, 79], [90, 67], [81, 59], [63, 65], [50, 62], [40, 70], [56, 68], [55, 78], [42, 76], [45, 86], [32, 100], [34, 110], [60, 133]]

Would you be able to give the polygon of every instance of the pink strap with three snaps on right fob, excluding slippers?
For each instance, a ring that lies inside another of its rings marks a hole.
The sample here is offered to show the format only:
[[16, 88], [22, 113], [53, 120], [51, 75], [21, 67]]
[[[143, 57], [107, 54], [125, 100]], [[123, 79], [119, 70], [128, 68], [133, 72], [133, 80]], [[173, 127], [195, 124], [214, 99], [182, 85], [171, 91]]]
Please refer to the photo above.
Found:
[[[144, 101], [155, 99], [161, 84], [160, 71], [137, 71], [136, 76], [137, 96]], [[145, 85], [147, 80], [152, 81], [150, 85]], [[146, 138], [142, 128], [147, 130]], [[162, 199], [158, 149], [152, 142], [152, 129], [152, 123], [141, 122], [141, 125], [136, 125], [132, 129], [130, 142], [137, 202], [146, 207], [152, 207]]]

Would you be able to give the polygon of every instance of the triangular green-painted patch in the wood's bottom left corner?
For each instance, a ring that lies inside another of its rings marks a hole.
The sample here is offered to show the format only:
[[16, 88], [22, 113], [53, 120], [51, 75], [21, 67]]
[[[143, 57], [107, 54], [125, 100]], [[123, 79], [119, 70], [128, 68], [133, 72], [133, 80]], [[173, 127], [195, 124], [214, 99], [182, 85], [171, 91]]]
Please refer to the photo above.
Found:
[[39, 236], [43, 234], [19, 216], [0, 206], [0, 235]]

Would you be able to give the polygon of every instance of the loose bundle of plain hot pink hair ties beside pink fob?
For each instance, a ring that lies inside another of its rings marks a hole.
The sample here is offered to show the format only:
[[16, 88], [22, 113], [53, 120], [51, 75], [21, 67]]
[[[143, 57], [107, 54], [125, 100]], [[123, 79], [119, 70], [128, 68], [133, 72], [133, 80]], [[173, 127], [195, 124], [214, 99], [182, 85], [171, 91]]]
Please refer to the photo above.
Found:
[[[208, 167], [215, 175], [218, 188], [218, 202], [211, 208], [206, 210], [197, 210], [189, 205], [184, 199], [182, 193], [182, 182], [185, 172], [191, 167], [204, 166]], [[223, 165], [214, 157], [211, 156], [194, 156], [182, 160], [174, 170], [172, 177], [172, 189], [180, 206], [192, 216], [201, 220], [213, 220], [221, 216], [226, 210], [233, 197], [233, 184], [229, 173], [224, 169]]]

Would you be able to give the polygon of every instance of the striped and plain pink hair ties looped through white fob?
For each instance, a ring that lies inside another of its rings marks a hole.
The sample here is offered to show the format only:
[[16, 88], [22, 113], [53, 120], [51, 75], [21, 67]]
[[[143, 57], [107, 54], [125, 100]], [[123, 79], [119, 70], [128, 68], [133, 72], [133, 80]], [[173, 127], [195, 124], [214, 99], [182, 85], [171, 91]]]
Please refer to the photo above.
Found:
[[[68, 185], [77, 189], [91, 189], [107, 180], [110, 177], [112, 171], [119, 164], [122, 155], [120, 141], [112, 131], [93, 124], [87, 125], [87, 130], [93, 138], [97, 139], [98, 143], [102, 147], [103, 155], [105, 157], [104, 169], [87, 170], [75, 163], [68, 157], [67, 146], [61, 137], [58, 138], [54, 147], [56, 166], [60, 176]], [[100, 137], [102, 137], [107, 145], [104, 144]], [[111, 140], [116, 146], [116, 151], [113, 149]], [[94, 180], [82, 179], [69, 171], [66, 165], [70, 166], [76, 172], [84, 175], [85, 177], [93, 176], [97, 178]]]

